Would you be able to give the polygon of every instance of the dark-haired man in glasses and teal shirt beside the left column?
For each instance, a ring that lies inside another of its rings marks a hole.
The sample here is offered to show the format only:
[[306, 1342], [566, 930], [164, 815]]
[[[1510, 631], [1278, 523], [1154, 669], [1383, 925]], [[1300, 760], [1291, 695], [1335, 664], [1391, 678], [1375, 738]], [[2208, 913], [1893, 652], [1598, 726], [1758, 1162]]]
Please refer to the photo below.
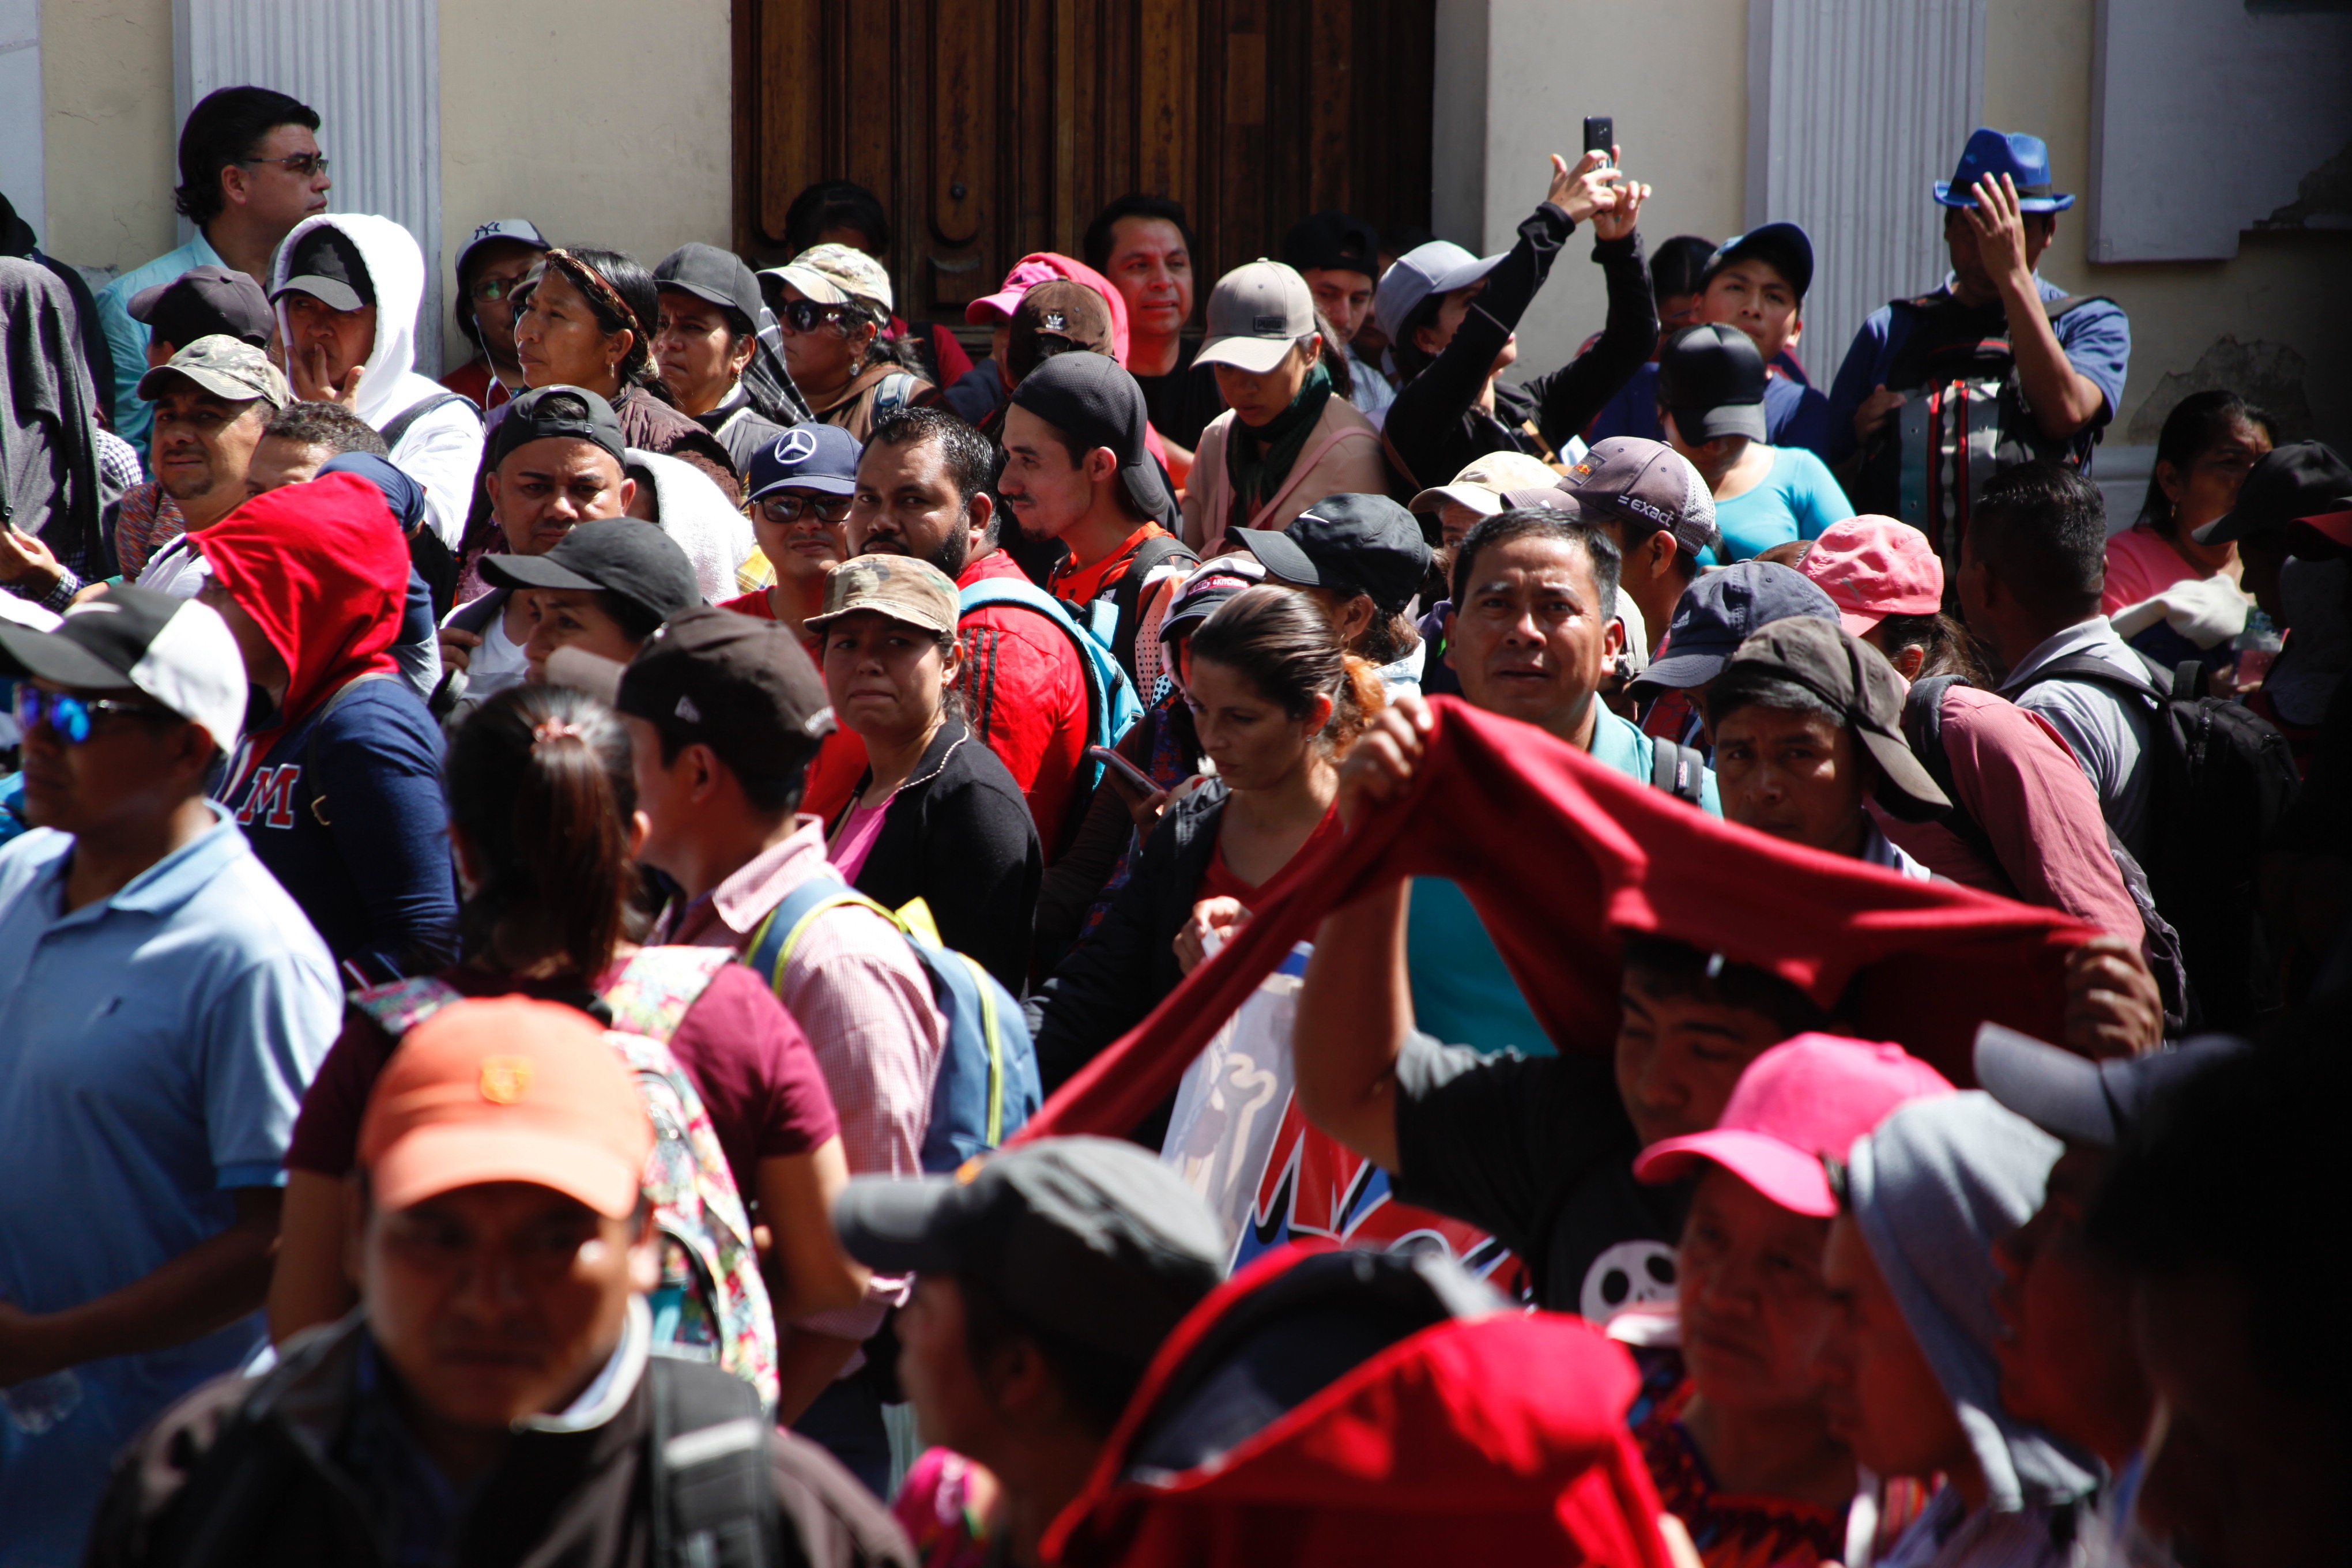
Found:
[[148, 369], [148, 324], [132, 301], [200, 266], [245, 273], [268, 287], [270, 256], [296, 223], [327, 212], [327, 155], [318, 110], [268, 87], [223, 87], [188, 113], [179, 132], [179, 214], [195, 237], [99, 289], [99, 322], [115, 355], [115, 435], [146, 451], [153, 407], [139, 397]]

